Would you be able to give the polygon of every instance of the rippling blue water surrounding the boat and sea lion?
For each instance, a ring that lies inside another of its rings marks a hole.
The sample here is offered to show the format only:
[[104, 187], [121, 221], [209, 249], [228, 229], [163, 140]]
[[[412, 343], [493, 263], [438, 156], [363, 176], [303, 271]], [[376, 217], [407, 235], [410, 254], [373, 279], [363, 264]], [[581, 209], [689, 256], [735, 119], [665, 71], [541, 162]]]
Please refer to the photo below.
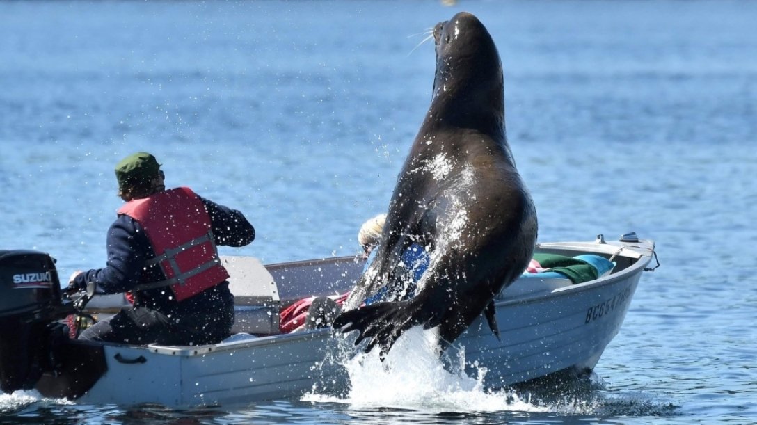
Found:
[[2, 249], [101, 267], [113, 167], [154, 153], [250, 219], [222, 254], [357, 253], [428, 108], [428, 31], [497, 42], [540, 241], [657, 241], [573, 411], [0, 402], [0, 423], [757, 423], [757, 2], [0, 2]]

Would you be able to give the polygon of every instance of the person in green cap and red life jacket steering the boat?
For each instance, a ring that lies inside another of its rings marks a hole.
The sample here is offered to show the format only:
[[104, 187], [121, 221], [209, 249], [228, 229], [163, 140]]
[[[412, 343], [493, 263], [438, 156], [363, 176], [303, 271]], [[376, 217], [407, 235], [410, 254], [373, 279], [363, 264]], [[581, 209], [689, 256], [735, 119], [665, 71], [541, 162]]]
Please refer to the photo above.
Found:
[[239, 211], [190, 188], [166, 190], [160, 164], [146, 152], [124, 158], [115, 172], [126, 203], [107, 232], [106, 266], [74, 272], [69, 290], [130, 293], [133, 305], [87, 328], [79, 339], [219, 343], [234, 324], [234, 296], [216, 245], [250, 244], [253, 226]]

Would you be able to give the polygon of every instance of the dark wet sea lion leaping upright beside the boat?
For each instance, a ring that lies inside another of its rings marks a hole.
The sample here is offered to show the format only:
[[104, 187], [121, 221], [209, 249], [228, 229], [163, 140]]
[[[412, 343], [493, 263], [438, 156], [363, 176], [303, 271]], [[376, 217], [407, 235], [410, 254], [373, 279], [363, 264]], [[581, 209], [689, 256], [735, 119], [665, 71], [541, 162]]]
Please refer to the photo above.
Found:
[[[469, 13], [434, 29], [433, 99], [389, 204], [378, 253], [334, 327], [382, 355], [410, 327], [438, 327], [452, 343], [525, 270], [534, 251], [534, 203], [505, 137], [502, 64], [488, 31]], [[416, 296], [356, 309], [403, 276], [403, 250], [425, 246], [430, 263]]]

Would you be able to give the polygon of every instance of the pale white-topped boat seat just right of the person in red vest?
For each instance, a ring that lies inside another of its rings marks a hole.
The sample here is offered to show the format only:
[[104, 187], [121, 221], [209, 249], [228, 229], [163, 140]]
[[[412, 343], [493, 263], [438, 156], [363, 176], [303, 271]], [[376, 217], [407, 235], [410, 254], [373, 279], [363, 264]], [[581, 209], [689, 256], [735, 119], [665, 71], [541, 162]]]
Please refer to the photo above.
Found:
[[221, 256], [221, 263], [234, 294], [232, 333], [279, 333], [279, 288], [263, 263], [249, 256]]

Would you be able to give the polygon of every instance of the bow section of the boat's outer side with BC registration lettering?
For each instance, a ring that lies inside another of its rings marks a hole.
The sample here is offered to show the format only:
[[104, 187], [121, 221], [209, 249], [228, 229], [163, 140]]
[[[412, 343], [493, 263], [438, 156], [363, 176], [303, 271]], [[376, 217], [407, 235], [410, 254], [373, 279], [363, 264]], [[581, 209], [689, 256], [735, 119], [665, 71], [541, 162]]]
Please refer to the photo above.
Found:
[[484, 385], [498, 388], [569, 368], [590, 371], [620, 330], [639, 278], [498, 302], [500, 340], [479, 318], [455, 344], [465, 350], [466, 372], [484, 368]]

